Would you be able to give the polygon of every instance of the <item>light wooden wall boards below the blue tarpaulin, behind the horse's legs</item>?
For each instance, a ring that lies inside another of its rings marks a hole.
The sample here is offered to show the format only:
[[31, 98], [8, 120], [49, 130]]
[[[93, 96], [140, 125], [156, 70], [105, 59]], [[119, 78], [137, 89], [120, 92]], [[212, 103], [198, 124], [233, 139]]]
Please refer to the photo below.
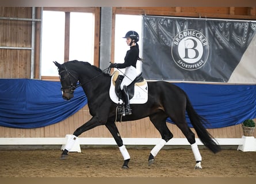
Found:
[[[72, 134], [75, 129], [81, 126], [84, 122], [90, 120], [90, 118], [91, 116], [86, 105], [79, 110], [78, 113], [75, 113], [66, 120], [47, 127], [32, 129], [0, 127], [0, 137], [65, 137], [67, 134]], [[148, 118], [143, 118], [142, 120], [137, 121], [116, 122], [116, 125], [121, 137], [161, 137]], [[176, 125], [170, 123], [167, 123], [167, 125], [175, 138], [184, 138], [184, 135]], [[195, 133], [193, 128], [192, 131]], [[243, 135], [242, 126], [240, 124], [226, 128], [208, 129], [208, 131], [215, 138], [240, 138]], [[100, 126], [82, 133], [80, 137], [112, 136], [105, 126]], [[254, 137], [256, 137], [256, 131], [254, 131]]]

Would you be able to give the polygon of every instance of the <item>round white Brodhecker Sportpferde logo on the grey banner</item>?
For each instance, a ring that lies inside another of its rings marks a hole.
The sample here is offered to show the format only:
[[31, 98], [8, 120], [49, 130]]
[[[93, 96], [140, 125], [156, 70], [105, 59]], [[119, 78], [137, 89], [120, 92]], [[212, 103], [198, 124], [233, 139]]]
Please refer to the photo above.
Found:
[[184, 70], [197, 70], [207, 62], [208, 40], [197, 30], [184, 30], [173, 39], [171, 55], [174, 62]]

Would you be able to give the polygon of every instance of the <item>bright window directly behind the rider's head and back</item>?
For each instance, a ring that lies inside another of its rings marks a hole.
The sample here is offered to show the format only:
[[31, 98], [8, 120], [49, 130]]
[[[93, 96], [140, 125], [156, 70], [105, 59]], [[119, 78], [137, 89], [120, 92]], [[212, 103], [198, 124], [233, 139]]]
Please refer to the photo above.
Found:
[[[114, 62], [124, 63], [124, 56], [129, 49], [123, 37], [129, 30], [135, 30], [139, 34], [140, 57], [142, 56], [142, 16], [116, 14], [116, 28], [114, 37]], [[140, 72], [141, 63], [137, 61], [137, 71]], [[124, 70], [123, 70], [124, 71]]]

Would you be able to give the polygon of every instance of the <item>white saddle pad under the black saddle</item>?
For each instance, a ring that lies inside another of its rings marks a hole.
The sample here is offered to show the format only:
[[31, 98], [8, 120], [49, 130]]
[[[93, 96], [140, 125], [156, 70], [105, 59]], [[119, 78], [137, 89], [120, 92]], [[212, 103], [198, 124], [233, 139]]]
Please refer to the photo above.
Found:
[[[116, 95], [115, 85], [114, 81], [116, 81], [117, 76], [119, 76], [119, 71], [114, 71], [111, 78], [111, 85], [109, 89], [109, 96], [110, 99], [116, 104], [123, 103], [122, 99], [119, 99]], [[134, 89], [134, 95], [130, 99], [130, 104], [145, 104], [148, 99], [148, 87], [147, 87], [147, 81], [143, 80], [143, 82], [135, 83], [135, 89]]]

